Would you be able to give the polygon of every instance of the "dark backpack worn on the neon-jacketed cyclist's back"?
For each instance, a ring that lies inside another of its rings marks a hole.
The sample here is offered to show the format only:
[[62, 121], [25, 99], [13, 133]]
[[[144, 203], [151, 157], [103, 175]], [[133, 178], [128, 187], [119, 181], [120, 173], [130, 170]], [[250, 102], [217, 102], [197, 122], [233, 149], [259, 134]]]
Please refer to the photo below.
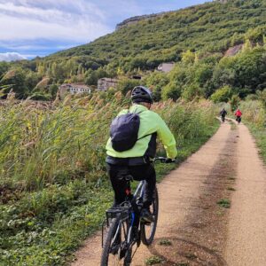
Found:
[[138, 140], [139, 125], [139, 113], [125, 113], [114, 118], [110, 127], [113, 150], [124, 152], [133, 148]]

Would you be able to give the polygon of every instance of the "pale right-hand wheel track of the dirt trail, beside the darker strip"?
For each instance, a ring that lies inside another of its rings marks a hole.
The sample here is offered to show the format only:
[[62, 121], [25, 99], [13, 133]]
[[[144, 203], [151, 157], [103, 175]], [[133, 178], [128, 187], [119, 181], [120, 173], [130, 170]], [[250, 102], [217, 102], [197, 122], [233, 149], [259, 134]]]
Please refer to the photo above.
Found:
[[266, 265], [266, 170], [254, 140], [239, 125], [236, 192], [225, 257], [233, 266]]

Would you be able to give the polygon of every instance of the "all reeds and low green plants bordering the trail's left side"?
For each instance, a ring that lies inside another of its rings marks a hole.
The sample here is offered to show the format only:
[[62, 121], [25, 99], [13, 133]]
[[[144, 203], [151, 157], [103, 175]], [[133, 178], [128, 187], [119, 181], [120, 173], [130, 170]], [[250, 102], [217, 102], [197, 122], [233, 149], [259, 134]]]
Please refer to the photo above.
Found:
[[[117, 92], [66, 98], [51, 107], [13, 101], [0, 106], [1, 263], [61, 265], [98, 230], [111, 205], [105, 145], [111, 119], [129, 98]], [[178, 161], [218, 127], [215, 106], [208, 101], [168, 100], [153, 109], [175, 134]], [[175, 165], [158, 163], [156, 168], [161, 179]]]

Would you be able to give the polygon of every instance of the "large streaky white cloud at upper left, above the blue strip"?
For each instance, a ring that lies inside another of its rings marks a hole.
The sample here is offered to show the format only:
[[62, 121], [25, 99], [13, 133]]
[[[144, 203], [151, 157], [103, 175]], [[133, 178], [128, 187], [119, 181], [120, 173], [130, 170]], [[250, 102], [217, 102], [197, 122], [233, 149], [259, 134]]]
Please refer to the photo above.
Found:
[[106, 26], [104, 12], [83, 0], [4, 2], [0, 0], [0, 41], [48, 39], [87, 43], [112, 30]]

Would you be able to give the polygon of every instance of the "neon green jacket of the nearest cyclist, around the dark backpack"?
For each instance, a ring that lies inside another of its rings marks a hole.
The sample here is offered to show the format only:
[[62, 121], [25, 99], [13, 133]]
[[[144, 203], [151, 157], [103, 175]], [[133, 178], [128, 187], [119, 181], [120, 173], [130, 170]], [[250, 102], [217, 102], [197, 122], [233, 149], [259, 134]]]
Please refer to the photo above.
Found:
[[[166, 149], [168, 158], [176, 158], [176, 140], [171, 131], [168, 129], [165, 121], [160, 118], [158, 113], [148, 110], [145, 106], [142, 105], [133, 105], [129, 108], [130, 113], [139, 113], [140, 117], [140, 126], [138, 130], [137, 143], [128, 151], [116, 152], [113, 150], [111, 137], [108, 139], [106, 150], [107, 155], [115, 158], [132, 158], [132, 157], [141, 157], [146, 155], [146, 152], [151, 144], [151, 138], [158, 136]], [[119, 114], [128, 113], [128, 110], [124, 109]], [[157, 134], [156, 134], [157, 133]], [[151, 135], [149, 135], [151, 134]], [[146, 136], [147, 135], [147, 136]], [[146, 137], [144, 137], [146, 136]], [[143, 138], [141, 138], [143, 137]], [[156, 147], [155, 147], [156, 148]], [[154, 157], [154, 154], [148, 154], [149, 157]]]

